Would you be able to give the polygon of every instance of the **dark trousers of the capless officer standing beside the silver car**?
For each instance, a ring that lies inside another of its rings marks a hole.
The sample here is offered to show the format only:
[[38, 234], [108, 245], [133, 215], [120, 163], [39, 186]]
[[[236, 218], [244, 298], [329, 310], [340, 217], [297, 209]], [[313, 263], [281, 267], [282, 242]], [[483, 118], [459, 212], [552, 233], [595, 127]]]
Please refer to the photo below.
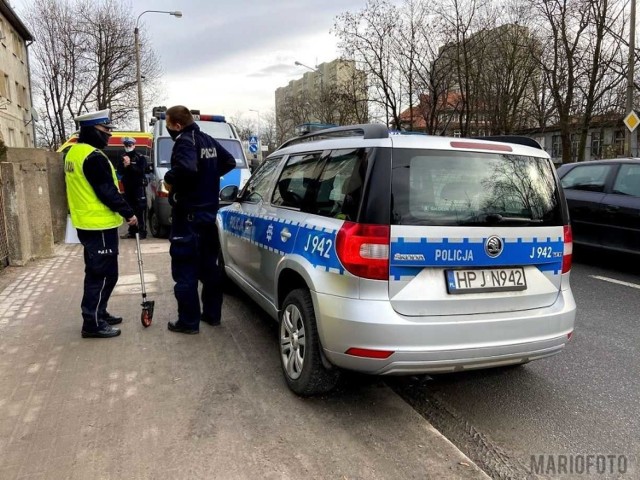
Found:
[[[198, 330], [200, 317], [218, 322], [222, 315], [222, 288], [218, 267], [218, 232], [215, 213], [207, 221], [173, 210], [171, 236], [171, 274], [176, 282], [178, 323]], [[202, 295], [198, 298], [198, 282]], [[202, 300], [202, 309], [200, 308]]]

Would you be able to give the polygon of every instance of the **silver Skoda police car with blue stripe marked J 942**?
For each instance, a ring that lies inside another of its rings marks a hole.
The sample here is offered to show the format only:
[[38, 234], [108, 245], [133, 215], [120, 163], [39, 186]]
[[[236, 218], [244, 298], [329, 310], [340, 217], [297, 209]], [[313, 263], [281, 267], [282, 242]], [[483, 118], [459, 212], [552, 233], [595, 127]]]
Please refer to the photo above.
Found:
[[564, 348], [571, 227], [531, 142], [338, 127], [222, 190], [225, 273], [279, 322], [294, 392], [326, 392], [341, 369], [455, 372]]

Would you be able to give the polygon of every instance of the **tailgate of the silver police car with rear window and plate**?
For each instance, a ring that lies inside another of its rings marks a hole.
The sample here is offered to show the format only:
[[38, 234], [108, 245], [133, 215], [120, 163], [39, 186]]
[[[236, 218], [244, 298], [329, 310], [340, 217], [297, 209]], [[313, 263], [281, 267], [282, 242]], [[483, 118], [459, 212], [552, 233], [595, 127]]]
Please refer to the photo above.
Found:
[[393, 151], [389, 297], [407, 316], [552, 305], [565, 215], [546, 158]]

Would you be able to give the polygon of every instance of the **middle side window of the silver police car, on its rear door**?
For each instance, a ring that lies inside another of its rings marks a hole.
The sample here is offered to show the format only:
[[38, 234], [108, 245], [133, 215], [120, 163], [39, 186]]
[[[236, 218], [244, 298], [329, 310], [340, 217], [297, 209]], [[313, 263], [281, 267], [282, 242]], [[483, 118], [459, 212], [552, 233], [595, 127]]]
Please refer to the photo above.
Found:
[[303, 204], [318, 176], [320, 155], [310, 153], [289, 157], [273, 192], [272, 205], [306, 210]]

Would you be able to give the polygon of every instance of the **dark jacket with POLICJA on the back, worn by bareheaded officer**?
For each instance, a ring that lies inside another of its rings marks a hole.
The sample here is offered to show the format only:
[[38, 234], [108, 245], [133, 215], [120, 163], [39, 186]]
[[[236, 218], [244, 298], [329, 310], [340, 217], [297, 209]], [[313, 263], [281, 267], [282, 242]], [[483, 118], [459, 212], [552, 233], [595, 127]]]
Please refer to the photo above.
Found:
[[171, 170], [165, 181], [171, 185], [169, 203], [174, 213], [218, 211], [220, 177], [233, 170], [236, 161], [220, 143], [196, 123], [176, 137], [171, 152]]

